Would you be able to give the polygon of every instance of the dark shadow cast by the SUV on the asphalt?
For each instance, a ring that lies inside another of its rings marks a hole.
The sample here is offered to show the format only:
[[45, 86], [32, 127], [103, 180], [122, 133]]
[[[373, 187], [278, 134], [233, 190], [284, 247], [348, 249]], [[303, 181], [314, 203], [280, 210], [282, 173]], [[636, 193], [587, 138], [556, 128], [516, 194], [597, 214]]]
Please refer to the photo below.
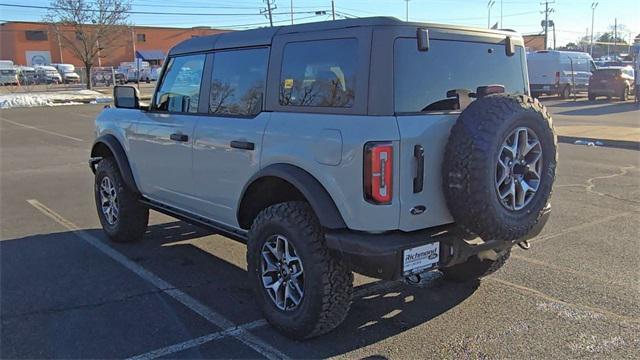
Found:
[[[84, 231], [106, 242], [102, 230]], [[236, 324], [260, 319], [246, 271], [234, 264], [246, 248], [209, 235], [176, 221], [150, 226], [140, 243], [109, 246]], [[230, 252], [234, 263], [215, 255]], [[132, 356], [219, 330], [72, 232], [4, 240], [0, 265], [3, 358]], [[423, 285], [361, 285], [345, 322], [310, 341], [289, 340], [268, 325], [253, 332], [293, 358], [330, 357], [428, 322], [478, 288], [439, 279]], [[232, 356], [224, 345], [211, 351], [179, 355]]]

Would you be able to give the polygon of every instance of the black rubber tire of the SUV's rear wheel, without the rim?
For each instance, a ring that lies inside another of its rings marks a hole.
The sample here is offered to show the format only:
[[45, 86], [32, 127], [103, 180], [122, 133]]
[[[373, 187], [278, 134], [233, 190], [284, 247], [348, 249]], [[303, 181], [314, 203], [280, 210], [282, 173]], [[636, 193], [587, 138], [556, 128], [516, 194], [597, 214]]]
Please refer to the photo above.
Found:
[[[279, 308], [263, 285], [263, 250], [274, 236], [292, 244], [302, 264], [304, 293], [290, 309]], [[322, 335], [340, 325], [349, 312], [353, 273], [329, 252], [318, 219], [305, 202], [272, 205], [258, 214], [249, 231], [247, 264], [258, 307], [286, 336], [309, 339]]]

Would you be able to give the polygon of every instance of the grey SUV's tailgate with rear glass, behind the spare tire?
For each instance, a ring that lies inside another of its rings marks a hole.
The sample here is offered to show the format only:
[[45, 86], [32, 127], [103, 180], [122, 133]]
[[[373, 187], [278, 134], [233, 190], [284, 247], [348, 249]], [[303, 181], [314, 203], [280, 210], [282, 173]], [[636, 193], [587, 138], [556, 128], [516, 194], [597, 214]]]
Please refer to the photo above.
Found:
[[475, 92], [478, 86], [499, 84], [508, 93], [528, 93], [522, 46], [508, 56], [505, 37], [499, 34], [448, 38], [430, 30], [430, 35], [428, 51], [418, 50], [415, 35], [396, 38], [394, 44], [400, 229], [405, 231], [453, 221], [441, 170], [450, 129], [461, 112], [456, 98], [448, 95], [450, 90]]

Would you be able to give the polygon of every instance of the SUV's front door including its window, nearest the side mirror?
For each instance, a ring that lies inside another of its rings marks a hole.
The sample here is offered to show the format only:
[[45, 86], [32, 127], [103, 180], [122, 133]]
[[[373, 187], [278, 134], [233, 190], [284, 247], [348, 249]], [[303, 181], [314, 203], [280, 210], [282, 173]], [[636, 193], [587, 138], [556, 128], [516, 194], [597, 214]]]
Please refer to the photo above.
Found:
[[192, 210], [193, 130], [197, 114], [206, 109], [199, 101], [205, 59], [168, 59], [151, 109], [130, 138], [132, 170], [143, 194], [183, 210]]

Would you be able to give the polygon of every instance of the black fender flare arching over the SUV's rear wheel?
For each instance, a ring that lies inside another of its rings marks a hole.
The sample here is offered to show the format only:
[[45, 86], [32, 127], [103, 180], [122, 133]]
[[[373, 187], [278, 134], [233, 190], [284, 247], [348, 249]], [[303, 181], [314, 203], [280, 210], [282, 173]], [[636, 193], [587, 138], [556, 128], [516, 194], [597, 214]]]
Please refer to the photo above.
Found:
[[320, 184], [320, 182], [309, 174], [307, 171], [290, 164], [273, 164], [265, 167], [254, 174], [247, 182], [244, 189], [242, 189], [242, 195], [240, 196], [240, 202], [238, 203], [237, 217], [240, 219], [241, 204], [244, 201], [244, 196], [247, 189], [257, 180], [264, 177], [277, 177], [291, 185], [293, 185], [305, 199], [311, 205], [311, 208], [315, 212], [320, 224], [328, 229], [344, 229], [347, 227], [338, 207], [331, 198], [331, 195]]

